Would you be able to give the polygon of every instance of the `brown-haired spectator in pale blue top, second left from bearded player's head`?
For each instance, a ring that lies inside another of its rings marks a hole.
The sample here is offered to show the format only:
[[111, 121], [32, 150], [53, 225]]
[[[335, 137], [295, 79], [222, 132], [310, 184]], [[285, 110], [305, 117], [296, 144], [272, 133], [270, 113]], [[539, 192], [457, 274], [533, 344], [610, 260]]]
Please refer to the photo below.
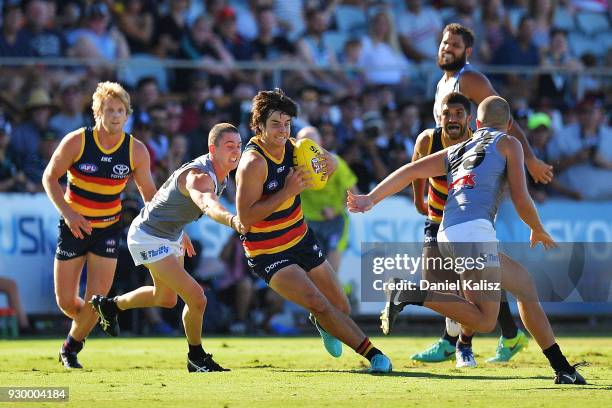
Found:
[[359, 65], [364, 69], [369, 84], [400, 85], [407, 80], [405, 71], [409, 63], [400, 50], [397, 35], [386, 12], [374, 15], [370, 32], [363, 37], [362, 44]]

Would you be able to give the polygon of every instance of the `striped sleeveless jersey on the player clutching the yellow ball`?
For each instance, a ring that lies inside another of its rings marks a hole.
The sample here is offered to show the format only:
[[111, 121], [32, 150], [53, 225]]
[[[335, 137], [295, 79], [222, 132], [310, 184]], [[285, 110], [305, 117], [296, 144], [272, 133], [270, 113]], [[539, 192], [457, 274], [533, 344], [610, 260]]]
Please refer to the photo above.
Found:
[[[287, 140], [281, 160], [274, 159], [263, 147], [258, 136], [251, 138], [244, 151], [256, 151], [267, 163], [267, 175], [264, 182], [262, 198], [281, 190], [285, 178], [293, 166], [293, 140]], [[282, 203], [264, 220], [251, 226], [249, 232], [242, 236], [242, 246], [248, 257], [263, 254], [276, 254], [296, 244], [308, 232], [304, 221], [299, 194]]]

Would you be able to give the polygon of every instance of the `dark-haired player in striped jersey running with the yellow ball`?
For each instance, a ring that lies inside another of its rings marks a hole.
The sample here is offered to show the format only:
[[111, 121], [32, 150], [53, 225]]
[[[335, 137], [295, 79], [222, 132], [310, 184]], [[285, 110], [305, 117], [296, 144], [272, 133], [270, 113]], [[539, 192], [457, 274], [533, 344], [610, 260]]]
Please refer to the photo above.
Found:
[[[391, 361], [372, 345], [349, 317], [350, 306], [336, 273], [308, 229], [300, 193], [312, 184], [306, 168], [293, 167], [295, 141], [289, 137], [296, 103], [280, 89], [253, 99], [251, 128], [238, 165], [236, 207], [249, 232], [242, 243], [249, 266], [278, 294], [311, 313], [327, 351], [342, 353], [342, 343], [370, 361], [371, 373], [388, 373]], [[328, 176], [333, 157], [320, 157]]]

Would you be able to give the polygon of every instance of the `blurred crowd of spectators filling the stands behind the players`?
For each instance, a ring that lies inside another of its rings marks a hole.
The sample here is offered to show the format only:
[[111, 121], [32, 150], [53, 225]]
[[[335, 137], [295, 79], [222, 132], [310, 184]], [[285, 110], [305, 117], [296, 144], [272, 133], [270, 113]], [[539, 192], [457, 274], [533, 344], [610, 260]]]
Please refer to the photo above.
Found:
[[[43, 191], [42, 173], [60, 139], [93, 124], [91, 95], [104, 80], [130, 90], [134, 112], [126, 131], [146, 144], [158, 185], [183, 162], [207, 152], [206, 135], [215, 123], [235, 124], [246, 143], [251, 98], [281, 85], [300, 105], [292, 132], [318, 128], [323, 147], [356, 175], [357, 189], [369, 191], [410, 160], [416, 136], [432, 127], [440, 35], [445, 24], [460, 22], [476, 34], [470, 62], [477, 66], [553, 68], [490, 76], [536, 154], [555, 166], [553, 183], [532, 183], [534, 199], [612, 199], [612, 78], [580, 74], [583, 68], [612, 66], [606, 0], [0, 4], [0, 61], [38, 59], [0, 62], [0, 192]], [[68, 57], [91, 62], [44, 62]], [[139, 62], [122, 65], [127, 58]], [[167, 67], [167, 60], [191, 61], [197, 69]], [[282, 71], [279, 83], [269, 70], [244, 68], [258, 61], [293, 69]], [[125, 202], [129, 226], [141, 203], [129, 193]], [[234, 310], [232, 330], [244, 332], [249, 302], [236, 303], [230, 289], [259, 301], [260, 321], [269, 321], [282, 305], [249, 277], [238, 246], [236, 237], [226, 244], [226, 275], [215, 285]], [[119, 269], [129, 264], [120, 260]], [[119, 286], [122, 276], [129, 271], [118, 271]], [[156, 312], [148, 320], [159, 332], [173, 330]]]

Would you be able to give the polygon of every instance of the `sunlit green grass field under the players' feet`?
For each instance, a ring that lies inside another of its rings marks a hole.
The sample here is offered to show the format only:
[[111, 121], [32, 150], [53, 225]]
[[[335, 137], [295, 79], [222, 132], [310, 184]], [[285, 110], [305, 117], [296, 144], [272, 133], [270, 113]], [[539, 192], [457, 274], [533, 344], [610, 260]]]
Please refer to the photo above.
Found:
[[[556, 386], [533, 340], [504, 366], [484, 360], [494, 338], [475, 340], [480, 366], [421, 364], [410, 354], [433, 337], [377, 337], [372, 341], [394, 366], [389, 375], [365, 373], [366, 361], [346, 348], [330, 357], [319, 338], [210, 338], [207, 351], [227, 373], [189, 374], [181, 338], [91, 338], [80, 355], [82, 371], [57, 361], [61, 340], [0, 341], [0, 385], [69, 387], [67, 404], [114, 407], [612, 407], [612, 337], [562, 337], [570, 362], [587, 360], [589, 385]], [[469, 404], [469, 405], [468, 405]], [[2, 403], [0, 406], [58, 406]]]

